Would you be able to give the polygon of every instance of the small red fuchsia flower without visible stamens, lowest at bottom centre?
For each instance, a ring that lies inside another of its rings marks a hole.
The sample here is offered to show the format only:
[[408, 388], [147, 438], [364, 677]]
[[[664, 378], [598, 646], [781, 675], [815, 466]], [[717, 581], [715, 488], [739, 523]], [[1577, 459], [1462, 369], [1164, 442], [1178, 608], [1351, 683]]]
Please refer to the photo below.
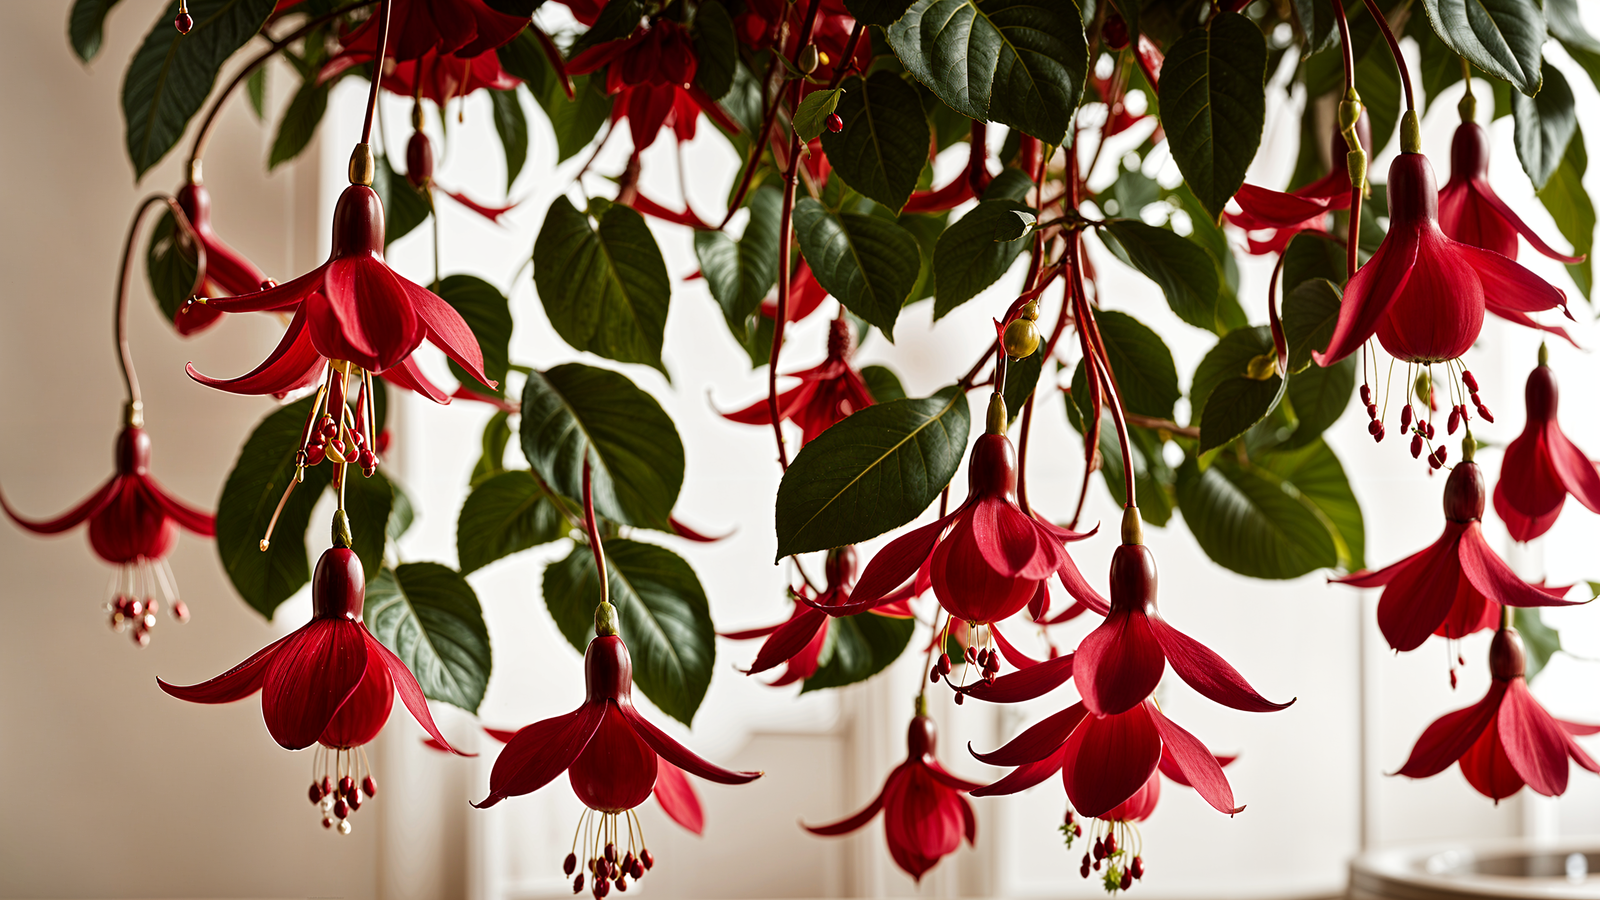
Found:
[[906, 762], [890, 772], [883, 790], [866, 809], [832, 825], [802, 826], [811, 834], [834, 838], [861, 830], [882, 812], [890, 857], [920, 882], [928, 870], [962, 846], [963, 836], [968, 846], [978, 839], [978, 817], [962, 794], [979, 785], [944, 770], [934, 756], [938, 732], [933, 719], [922, 713], [906, 730]]

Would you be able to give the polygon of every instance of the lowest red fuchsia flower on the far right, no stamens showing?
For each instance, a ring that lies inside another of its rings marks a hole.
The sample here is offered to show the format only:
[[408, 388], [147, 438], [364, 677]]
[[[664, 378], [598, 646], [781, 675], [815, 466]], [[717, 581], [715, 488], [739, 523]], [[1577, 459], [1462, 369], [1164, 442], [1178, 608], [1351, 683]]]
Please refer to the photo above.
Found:
[[1573, 735], [1597, 733], [1600, 725], [1557, 719], [1528, 693], [1517, 629], [1502, 626], [1494, 633], [1490, 674], [1493, 681], [1483, 700], [1429, 725], [1397, 775], [1430, 778], [1459, 762], [1467, 781], [1499, 802], [1523, 785], [1547, 798], [1562, 796], [1568, 759], [1600, 772], [1600, 764], [1573, 741]]

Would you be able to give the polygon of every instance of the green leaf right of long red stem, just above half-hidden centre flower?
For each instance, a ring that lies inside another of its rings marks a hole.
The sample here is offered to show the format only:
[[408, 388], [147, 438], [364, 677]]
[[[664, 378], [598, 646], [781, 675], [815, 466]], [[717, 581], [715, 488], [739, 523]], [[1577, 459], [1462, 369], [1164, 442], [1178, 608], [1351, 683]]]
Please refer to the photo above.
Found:
[[816, 283], [893, 341], [894, 320], [922, 267], [917, 239], [893, 221], [832, 213], [810, 197], [795, 203], [794, 218]]

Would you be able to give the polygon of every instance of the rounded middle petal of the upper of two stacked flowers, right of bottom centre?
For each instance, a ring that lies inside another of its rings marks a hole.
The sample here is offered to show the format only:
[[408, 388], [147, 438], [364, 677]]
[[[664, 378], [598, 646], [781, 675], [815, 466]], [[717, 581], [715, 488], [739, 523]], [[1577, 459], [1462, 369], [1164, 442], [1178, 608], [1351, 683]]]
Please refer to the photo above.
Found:
[[1112, 610], [1078, 644], [1072, 677], [1096, 716], [1126, 713], [1155, 690], [1166, 657], [1144, 610]]

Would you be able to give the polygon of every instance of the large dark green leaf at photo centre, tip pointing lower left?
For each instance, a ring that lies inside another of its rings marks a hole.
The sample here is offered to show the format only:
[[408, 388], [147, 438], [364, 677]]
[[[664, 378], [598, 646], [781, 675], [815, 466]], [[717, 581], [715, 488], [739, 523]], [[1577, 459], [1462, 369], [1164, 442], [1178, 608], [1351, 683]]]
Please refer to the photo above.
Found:
[[824, 431], [778, 485], [778, 559], [875, 538], [920, 516], [962, 464], [970, 428], [966, 394], [950, 386]]

